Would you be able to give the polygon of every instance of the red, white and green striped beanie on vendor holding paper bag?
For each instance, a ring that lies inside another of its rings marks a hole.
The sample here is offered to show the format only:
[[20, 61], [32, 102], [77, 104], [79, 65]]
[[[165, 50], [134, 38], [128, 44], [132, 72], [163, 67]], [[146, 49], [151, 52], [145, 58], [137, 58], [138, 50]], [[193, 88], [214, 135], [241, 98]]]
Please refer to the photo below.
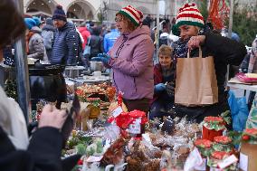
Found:
[[204, 17], [195, 4], [186, 4], [179, 8], [176, 15], [176, 28], [181, 25], [195, 25], [200, 28], [205, 26]]

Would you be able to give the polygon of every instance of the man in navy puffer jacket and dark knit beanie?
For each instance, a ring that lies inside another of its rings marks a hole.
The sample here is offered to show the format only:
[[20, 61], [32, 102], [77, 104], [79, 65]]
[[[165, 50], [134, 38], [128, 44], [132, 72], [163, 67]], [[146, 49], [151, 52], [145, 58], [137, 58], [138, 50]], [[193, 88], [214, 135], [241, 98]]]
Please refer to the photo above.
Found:
[[80, 37], [75, 25], [67, 22], [61, 5], [56, 6], [52, 20], [57, 30], [53, 39], [51, 64], [76, 64], [80, 53]]

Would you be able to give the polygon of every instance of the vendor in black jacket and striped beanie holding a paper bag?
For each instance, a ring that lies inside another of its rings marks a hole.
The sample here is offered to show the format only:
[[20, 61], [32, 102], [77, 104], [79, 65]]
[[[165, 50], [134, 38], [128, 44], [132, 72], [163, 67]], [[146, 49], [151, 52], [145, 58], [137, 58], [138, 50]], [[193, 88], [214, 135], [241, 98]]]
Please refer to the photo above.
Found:
[[[192, 14], [191, 11], [194, 11]], [[218, 116], [229, 110], [227, 94], [224, 88], [227, 64], [240, 65], [246, 54], [243, 43], [212, 32], [201, 32], [204, 28], [204, 18], [195, 4], [186, 4], [179, 9], [176, 15], [176, 25], [173, 33], [180, 35], [180, 39], [174, 44], [175, 58], [186, 58], [188, 50], [191, 56], [198, 56], [199, 47], [203, 51], [203, 57], [214, 56], [214, 68], [218, 87], [218, 102], [209, 106], [185, 107], [177, 105], [176, 114], [180, 117], [187, 115], [188, 119], [203, 121], [206, 116]], [[190, 85], [188, 85], [190, 86]]]

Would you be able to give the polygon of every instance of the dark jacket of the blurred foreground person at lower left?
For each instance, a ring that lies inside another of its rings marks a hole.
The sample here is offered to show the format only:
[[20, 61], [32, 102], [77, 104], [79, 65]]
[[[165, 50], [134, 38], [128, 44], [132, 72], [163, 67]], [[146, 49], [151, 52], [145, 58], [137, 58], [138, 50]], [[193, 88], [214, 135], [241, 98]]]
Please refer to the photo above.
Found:
[[80, 155], [61, 160], [62, 133], [57, 128], [39, 128], [33, 133], [27, 150], [17, 150], [0, 127], [1, 171], [68, 171]]

